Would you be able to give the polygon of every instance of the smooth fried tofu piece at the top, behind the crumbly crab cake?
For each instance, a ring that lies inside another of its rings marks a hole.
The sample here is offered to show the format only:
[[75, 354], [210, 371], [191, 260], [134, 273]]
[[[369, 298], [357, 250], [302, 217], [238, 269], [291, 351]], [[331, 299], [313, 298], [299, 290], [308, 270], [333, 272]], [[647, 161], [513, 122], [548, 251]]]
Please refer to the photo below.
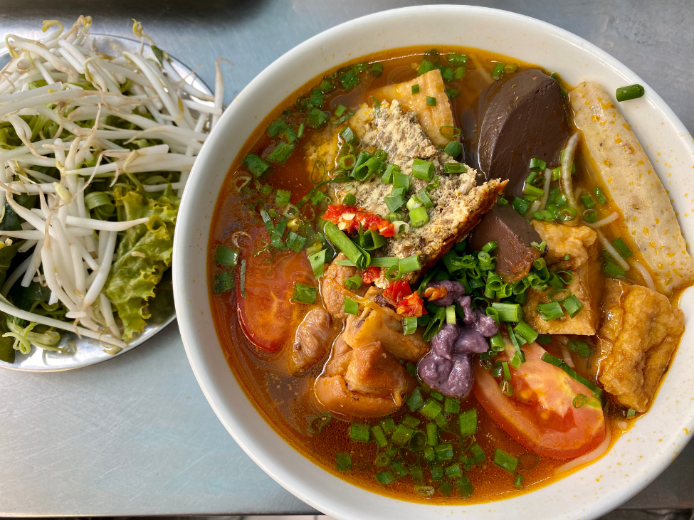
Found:
[[[419, 92], [412, 93], [412, 87], [419, 85]], [[445, 147], [451, 142], [451, 137], [441, 134], [441, 127], [449, 127], [453, 130], [453, 111], [446, 95], [446, 85], [441, 78], [441, 70], [430, 70], [426, 74], [417, 76], [414, 80], [394, 85], [386, 85], [372, 92], [374, 97], [383, 101], [393, 102], [397, 100], [407, 112], [416, 112], [419, 115], [421, 124], [426, 137], [431, 139], [433, 144]], [[436, 105], [428, 105], [427, 97], [436, 99]]]

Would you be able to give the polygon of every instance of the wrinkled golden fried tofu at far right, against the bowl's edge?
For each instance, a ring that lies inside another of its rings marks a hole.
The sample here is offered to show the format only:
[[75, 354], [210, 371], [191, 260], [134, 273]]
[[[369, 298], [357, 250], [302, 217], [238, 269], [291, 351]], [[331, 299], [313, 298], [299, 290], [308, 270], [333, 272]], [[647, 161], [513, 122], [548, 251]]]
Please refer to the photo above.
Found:
[[667, 297], [607, 280], [594, 376], [619, 403], [645, 412], [684, 333], [684, 313]]

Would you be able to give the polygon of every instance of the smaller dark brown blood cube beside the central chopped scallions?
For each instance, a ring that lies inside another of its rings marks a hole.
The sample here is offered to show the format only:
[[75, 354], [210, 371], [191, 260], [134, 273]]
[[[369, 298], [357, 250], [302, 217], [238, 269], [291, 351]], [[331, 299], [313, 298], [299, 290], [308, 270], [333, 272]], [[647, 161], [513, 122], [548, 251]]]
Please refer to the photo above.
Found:
[[511, 206], [494, 206], [472, 230], [468, 240], [470, 251], [481, 251], [488, 242], [496, 242], [496, 272], [504, 282], [520, 280], [530, 272], [532, 262], [540, 258], [540, 250], [532, 243], [542, 238]]

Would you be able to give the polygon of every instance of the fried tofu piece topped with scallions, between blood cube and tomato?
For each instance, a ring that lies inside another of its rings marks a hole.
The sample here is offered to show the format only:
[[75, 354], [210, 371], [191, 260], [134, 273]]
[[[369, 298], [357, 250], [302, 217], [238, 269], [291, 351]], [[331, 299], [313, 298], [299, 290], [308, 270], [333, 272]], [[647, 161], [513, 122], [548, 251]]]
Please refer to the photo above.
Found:
[[[532, 226], [547, 241], [545, 262], [550, 270], [570, 270], [573, 280], [566, 289], [575, 295], [583, 308], [574, 316], [545, 322], [536, 312], [537, 304], [547, 303], [550, 290], [529, 290], [523, 306], [525, 321], [542, 334], [579, 334], [593, 336], [599, 323], [598, 304], [602, 283], [597, 233], [585, 225], [562, 225], [533, 221]], [[564, 260], [565, 255], [569, 260]]]

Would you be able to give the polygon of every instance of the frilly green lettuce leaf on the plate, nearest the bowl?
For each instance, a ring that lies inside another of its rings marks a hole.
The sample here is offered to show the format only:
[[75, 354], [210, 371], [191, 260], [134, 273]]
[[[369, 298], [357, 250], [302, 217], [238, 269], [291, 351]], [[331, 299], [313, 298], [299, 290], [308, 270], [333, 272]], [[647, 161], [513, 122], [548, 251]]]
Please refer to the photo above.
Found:
[[121, 238], [104, 288], [123, 322], [123, 339], [130, 341], [144, 329], [147, 300], [171, 265], [180, 199], [170, 186], [159, 198], [124, 189], [114, 190], [114, 197], [123, 220], [149, 217], [149, 222], [130, 228]]

